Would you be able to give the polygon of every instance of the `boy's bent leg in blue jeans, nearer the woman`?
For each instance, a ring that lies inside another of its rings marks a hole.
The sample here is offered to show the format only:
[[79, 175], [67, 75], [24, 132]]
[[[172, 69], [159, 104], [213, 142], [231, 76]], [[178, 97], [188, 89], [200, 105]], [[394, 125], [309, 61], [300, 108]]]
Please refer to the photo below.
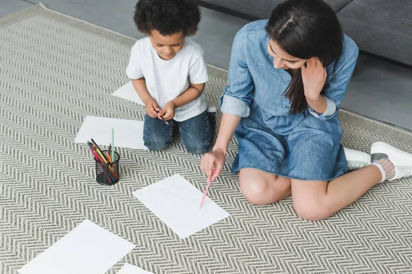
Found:
[[207, 112], [198, 114], [198, 116], [194, 116], [186, 121], [179, 122], [182, 142], [187, 152], [195, 154], [205, 153], [213, 140], [211, 128], [212, 125]]

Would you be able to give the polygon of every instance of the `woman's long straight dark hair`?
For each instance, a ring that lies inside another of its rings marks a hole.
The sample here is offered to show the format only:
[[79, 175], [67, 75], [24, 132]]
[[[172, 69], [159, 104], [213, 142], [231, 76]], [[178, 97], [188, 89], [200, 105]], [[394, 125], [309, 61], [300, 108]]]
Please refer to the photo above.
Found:
[[[277, 5], [266, 25], [266, 32], [279, 47], [300, 59], [317, 57], [328, 66], [343, 51], [343, 32], [336, 14], [322, 0], [288, 0]], [[334, 67], [335, 69], [335, 67]], [[290, 113], [306, 110], [301, 69], [293, 74], [284, 96], [290, 100]]]

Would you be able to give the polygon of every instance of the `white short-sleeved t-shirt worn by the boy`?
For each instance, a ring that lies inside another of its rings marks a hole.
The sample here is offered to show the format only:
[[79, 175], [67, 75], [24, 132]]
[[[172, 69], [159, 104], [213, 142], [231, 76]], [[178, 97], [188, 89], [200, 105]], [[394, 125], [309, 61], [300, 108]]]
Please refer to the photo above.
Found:
[[[126, 74], [130, 79], [144, 77], [146, 87], [159, 108], [181, 95], [190, 84], [203, 84], [209, 79], [203, 49], [186, 38], [181, 51], [171, 60], [163, 60], [146, 37], [137, 40], [130, 53]], [[176, 108], [174, 120], [181, 122], [201, 114], [207, 109], [205, 95]]]

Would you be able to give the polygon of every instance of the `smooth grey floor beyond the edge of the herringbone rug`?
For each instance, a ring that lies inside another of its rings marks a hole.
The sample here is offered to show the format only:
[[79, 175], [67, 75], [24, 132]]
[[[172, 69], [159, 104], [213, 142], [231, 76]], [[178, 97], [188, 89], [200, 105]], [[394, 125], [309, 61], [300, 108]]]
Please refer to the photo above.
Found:
[[[81, 18], [134, 38], [142, 38], [133, 24], [136, 0], [0, 0], [0, 16], [42, 2], [48, 8]], [[203, 8], [193, 39], [205, 50], [209, 64], [227, 69], [231, 42], [249, 21]], [[398, 66], [360, 55], [341, 107], [358, 114], [412, 130], [412, 67]]]

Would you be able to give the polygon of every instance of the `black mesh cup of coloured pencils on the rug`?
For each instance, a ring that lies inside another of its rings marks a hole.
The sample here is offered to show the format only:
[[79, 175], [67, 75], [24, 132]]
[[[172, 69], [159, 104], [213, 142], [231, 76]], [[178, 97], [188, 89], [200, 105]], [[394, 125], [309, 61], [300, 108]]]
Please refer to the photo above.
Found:
[[[107, 150], [102, 151], [106, 155]], [[96, 182], [104, 186], [111, 186], [119, 182], [119, 153], [114, 151], [114, 159], [111, 163], [102, 163], [95, 158]]]

